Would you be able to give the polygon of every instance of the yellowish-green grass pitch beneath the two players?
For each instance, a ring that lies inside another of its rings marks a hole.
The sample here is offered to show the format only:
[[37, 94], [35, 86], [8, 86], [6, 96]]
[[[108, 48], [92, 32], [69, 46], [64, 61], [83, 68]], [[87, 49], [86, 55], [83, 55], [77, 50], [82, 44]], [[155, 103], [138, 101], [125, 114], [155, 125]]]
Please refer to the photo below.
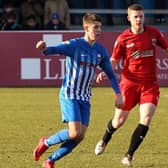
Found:
[[[40, 168], [42, 160], [57, 148], [49, 149], [38, 162], [32, 158], [32, 151], [41, 136], [49, 136], [66, 126], [61, 123], [58, 93], [59, 88], [0, 88], [0, 167]], [[91, 102], [92, 114], [86, 139], [56, 167], [123, 167], [120, 159], [138, 123], [138, 107], [115, 133], [105, 153], [95, 156], [95, 145], [113, 115], [113, 91], [94, 88]], [[146, 139], [135, 154], [134, 167], [168, 167], [168, 88], [161, 88], [157, 112]]]

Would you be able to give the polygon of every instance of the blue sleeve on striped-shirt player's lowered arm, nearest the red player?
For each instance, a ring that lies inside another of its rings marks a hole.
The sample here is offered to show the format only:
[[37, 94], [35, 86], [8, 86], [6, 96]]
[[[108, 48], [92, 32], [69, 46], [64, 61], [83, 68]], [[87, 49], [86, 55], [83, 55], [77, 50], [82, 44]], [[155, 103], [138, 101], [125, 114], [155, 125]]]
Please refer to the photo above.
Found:
[[109, 80], [110, 80], [110, 85], [113, 88], [113, 90], [115, 91], [116, 94], [121, 93], [120, 92], [120, 87], [119, 87], [119, 83], [118, 80], [115, 76], [115, 73], [112, 69], [111, 63], [110, 63], [110, 59], [109, 59], [109, 55], [107, 52], [104, 53], [105, 56], [104, 58], [101, 60], [99, 66], [102, 68], [102, 70], [106, 73], [106, 75], [108, 76]]

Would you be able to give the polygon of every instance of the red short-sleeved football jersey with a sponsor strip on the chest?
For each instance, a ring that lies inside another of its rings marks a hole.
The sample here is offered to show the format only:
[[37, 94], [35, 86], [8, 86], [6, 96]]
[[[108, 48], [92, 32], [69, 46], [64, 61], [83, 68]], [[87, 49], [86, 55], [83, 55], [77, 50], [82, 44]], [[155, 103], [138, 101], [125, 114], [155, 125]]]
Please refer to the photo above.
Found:
[[154, 27], [145, 26], [141, 34], [133, 34], [126, 29], [117, 38], [112, 57], [123, 59], [121, 78], [133, 81], [156, 81], [155, 46], [168, 48], [163, 34]]

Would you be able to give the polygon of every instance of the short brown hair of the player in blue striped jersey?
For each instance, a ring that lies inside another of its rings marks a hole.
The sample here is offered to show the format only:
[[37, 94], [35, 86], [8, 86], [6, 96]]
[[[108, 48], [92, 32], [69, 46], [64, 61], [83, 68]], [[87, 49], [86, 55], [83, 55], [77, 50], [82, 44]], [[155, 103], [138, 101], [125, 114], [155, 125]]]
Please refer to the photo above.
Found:
[[101, 17], [95, 13], [86, 13], [83, 16], [83, 24], [84, 23], [93, 23], [95, 21], [102, 22]]

